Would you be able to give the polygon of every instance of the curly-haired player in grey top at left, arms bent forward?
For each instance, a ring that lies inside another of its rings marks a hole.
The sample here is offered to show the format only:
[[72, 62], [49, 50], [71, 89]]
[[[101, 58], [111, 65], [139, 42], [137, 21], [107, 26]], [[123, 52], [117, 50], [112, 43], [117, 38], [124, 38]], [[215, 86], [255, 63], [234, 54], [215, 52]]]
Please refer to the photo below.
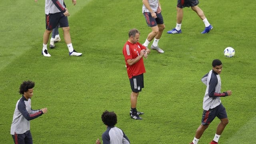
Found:
[[11, 126], [11, 135], [14, 144], [32, 144], [30, 120], [47, 113], [47, 108], [42, 108], [41, 110], [32, 110], [31, 108], [30, 98], [33, 96], [34, 86], [35, 83], [31, 81], [24, 81], [20, 85], [20, 94], [22, 94], [22, 97], [16, 103]]

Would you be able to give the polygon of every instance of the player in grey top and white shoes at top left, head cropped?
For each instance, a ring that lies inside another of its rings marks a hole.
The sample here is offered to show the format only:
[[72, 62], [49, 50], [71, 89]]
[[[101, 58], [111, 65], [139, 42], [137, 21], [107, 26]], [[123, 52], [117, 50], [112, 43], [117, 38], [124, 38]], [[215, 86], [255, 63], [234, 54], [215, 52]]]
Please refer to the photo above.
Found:
[[[72, 0], [72, 3], [76, 5], [76, 0]], [[51, 55], [47, 50], [47, 43], [49, 40], [50, 33], [53, 28], [56, 28], [57, 25], [60, 26], [63, 30], [64, 40], [68, 46], [70, 56], [81, 56], [82, 53], [76, 52], [72, 46], [71, 37], [70, 37], [70, 27], [68, 25], [69, 12], [68, 9], [64, 6], [63, 0], [45, 0], [45, 14], [46, 14], [46, 30], [43, 37], [43, 49], [42, 54], [44, 56], [50, 57]]]

